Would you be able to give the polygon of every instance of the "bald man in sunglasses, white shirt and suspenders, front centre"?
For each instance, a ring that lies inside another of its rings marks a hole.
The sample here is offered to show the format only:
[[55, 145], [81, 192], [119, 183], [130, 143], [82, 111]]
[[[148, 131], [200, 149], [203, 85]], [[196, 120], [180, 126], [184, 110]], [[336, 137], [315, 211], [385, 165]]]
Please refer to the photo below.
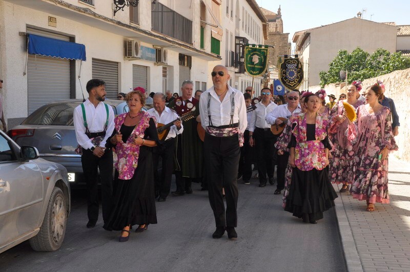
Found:
[[[227, 231], [229, 239], [237, 238], [238, 185], [236, 182], [243, 132], [247, 128], [245, 100], [240, 91], [228, 85], [230, 75], [222, 65], [214, 67], [214, 86], [201, 94], [199, 111], [206, 130], [203, 141], [209, 202], [214, 212], [216, 231], [212, 238], [221, 238]], [[227, 210], [222, 198], [225, 189]]]

